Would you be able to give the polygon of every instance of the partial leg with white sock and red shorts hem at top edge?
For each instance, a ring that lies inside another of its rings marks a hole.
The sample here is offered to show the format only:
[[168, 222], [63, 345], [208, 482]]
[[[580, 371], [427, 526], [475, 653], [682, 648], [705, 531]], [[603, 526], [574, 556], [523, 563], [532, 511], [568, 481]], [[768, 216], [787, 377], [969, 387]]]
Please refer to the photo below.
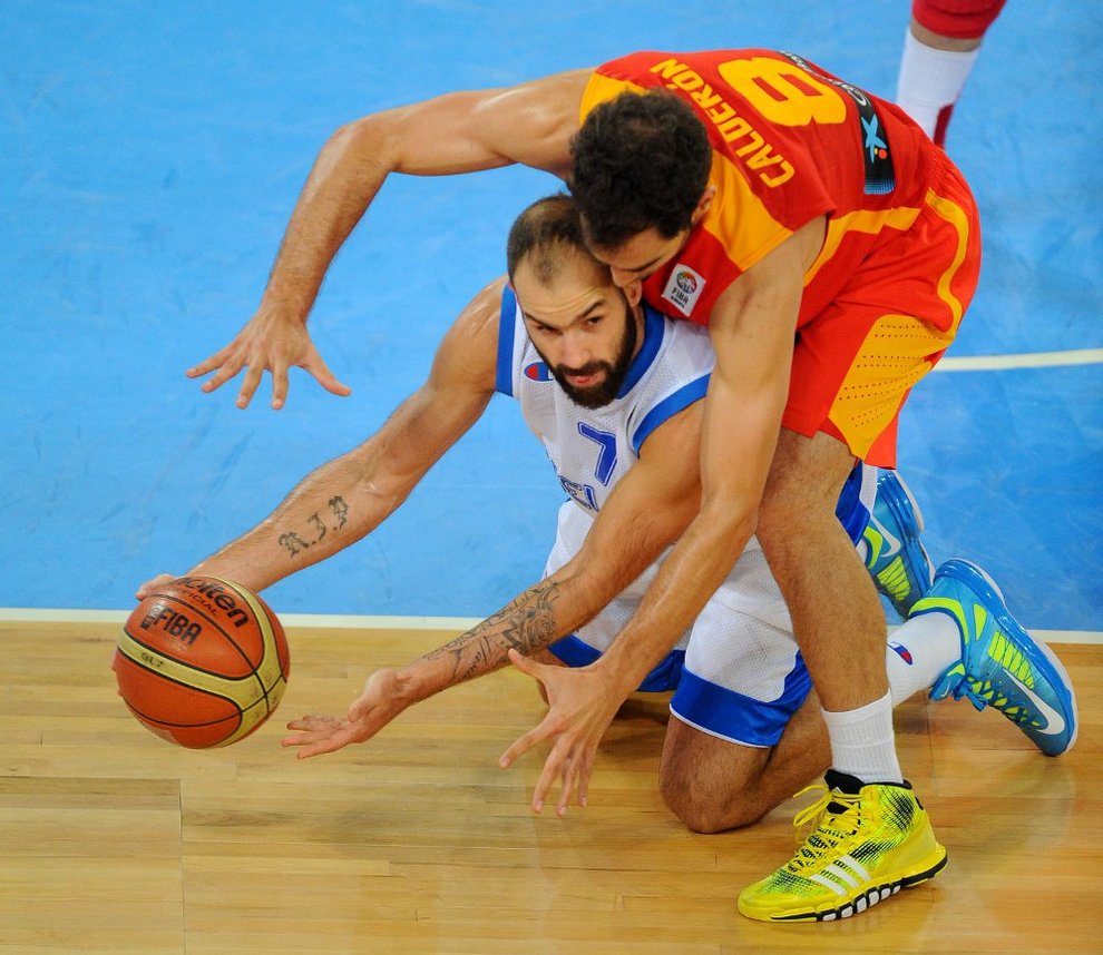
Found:
[[941, 146], [980, 41], [1005, 0], [914, 0], [896, 101]]

